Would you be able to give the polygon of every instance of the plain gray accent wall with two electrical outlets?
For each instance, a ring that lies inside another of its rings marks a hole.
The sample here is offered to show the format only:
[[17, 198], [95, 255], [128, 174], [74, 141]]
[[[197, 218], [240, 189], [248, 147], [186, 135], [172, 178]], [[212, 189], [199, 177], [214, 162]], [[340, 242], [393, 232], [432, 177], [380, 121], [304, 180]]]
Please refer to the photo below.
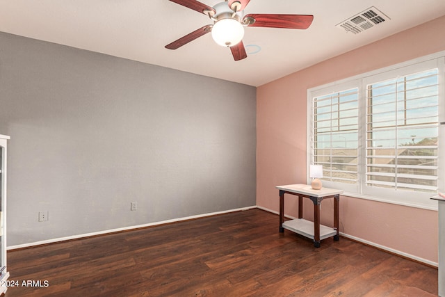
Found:
[[256, 92], [0, 33], [8, 246], [255, 205]]

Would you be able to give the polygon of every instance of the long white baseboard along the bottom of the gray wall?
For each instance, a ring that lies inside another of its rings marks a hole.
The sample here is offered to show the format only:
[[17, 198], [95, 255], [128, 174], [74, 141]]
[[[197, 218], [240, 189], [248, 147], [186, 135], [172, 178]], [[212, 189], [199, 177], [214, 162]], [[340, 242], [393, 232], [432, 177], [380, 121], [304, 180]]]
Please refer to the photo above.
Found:
[[55, 238], [55, 239], [47, 239], [47, 240], [44, 240], [44, 241], [35, 241], [35, 242], [31, 242], [31, 243], [19, 244], [17, 246], [8, 246], [6, 248], [6, 250], [17, 250], [19, 248], [30, 248], [32, 246], [41, 246], [43, 244], [48, 244], [48, 243], [56, 243], [56, 242], [67, 241], [67, 240], [72, 240], [72, 239], [81, 239], [83, 237], [104, 235], [104, 234], [110, 234], [110, 233], [114, 233], [114, 232], [122, 232], [122, 231], [127, 231], [127, 230], [143, 228], [143, 227], [153, 227], [153, 226], [156, 226], [156, 225], [163, 225], [163, 224], [168, 224], [168, 223], [180, 222], [182, 220], [193, 220], [194, 218], [204, 218], [206, 216], [216, 216], [218, 214], [228, 214], [230, 212], [245, 211], [245, 210], [254, 209], [254, 208], [257, 208], [257, 206], [254, 205], [254, 206], [243, 207], [243, 208], [239, 208], [239, 209], [229, 209], [229, 210], [226, 210], [226, 211], [216, 211], [216, 212], [211, 212], [209, 214], [198, 214], [198, 215], [195, 215], [195, 216], [186, 216], [184, 218], [173, 218], [171, 220], [162, 220], [160, 222], [148, 223], [148, 224], [143, 224], [143, 225], [135, 225], [135, 226], [122, 227], [122, 228], [111, 229], [111, 230], [104, 230], [104, 231], [98, 231], [98, 232], [92, 232], [92, 233], [86, 233], [86, 234], [78, 234], [78, 235], [60, 237], [60, 238]]

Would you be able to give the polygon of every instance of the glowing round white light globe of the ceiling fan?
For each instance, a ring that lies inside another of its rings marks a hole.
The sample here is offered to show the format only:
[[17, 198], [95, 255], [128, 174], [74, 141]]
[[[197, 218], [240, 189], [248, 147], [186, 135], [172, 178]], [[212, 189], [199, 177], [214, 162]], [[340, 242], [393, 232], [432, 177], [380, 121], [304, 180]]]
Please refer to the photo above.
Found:
[[243, 40], [244, 27], [236, 19], [220, 19], [213, 24], [211, 37], [222, 47], [232, 47]]

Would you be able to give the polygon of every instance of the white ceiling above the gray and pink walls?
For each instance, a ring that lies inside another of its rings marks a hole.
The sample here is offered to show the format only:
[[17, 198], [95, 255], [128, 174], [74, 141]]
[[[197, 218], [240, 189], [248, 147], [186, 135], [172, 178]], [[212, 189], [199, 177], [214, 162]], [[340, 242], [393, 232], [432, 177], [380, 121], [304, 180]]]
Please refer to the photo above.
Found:
[[[220, 0], [201, 2], [213, 6]], [[357, 35], [336, 26], [371, 6], [390, 20]], [[0, 31], [261, 86], [441, 17], [445, 1], [251, 0], [245, 13], [314, 15], [314, 22], [307, 30], [246, 28], [248, 58], [241, 61], [234, 61], [230, 50], [216, 45], [210, 34], [177, 50], [165, 49], [211, 24], [206, 15], [168, 0], [0, 0]], [[261, 51], [252, 54], [250, 45]]]

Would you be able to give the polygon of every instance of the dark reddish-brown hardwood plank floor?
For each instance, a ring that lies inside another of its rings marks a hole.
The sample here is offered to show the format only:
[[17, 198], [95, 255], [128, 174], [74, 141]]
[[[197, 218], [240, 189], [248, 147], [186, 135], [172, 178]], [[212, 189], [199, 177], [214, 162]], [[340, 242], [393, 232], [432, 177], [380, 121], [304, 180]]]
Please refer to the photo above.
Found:
[[12, 250], [8, 270], [6, 297], [437, 296], [435, 268], [345, 238], [314, 248], [260, 209]]

